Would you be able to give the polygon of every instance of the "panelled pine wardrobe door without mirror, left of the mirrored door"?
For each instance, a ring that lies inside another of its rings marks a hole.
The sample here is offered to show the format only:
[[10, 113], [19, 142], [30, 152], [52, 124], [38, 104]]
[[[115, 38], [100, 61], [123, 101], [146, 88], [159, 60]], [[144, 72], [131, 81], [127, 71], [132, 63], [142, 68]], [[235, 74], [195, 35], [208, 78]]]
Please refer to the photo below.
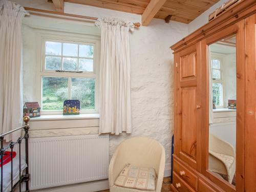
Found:
[[200, 161], [200, 42], [175, 55], [175, 155], [198, 169]]

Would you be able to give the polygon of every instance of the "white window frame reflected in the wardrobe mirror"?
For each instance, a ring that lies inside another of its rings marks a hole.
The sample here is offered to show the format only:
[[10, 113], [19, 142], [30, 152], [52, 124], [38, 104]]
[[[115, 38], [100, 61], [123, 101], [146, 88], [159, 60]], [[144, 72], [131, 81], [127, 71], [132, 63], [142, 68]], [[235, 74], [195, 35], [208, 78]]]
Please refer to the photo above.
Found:
[[[222, 86], [222, 105], [216, 105], [216, 108], [224, 108], [224, 81], [223, 81], [223, 57], [220, 55], [216, 55], [216, 54], [211, 54], [211, 60], [219, 60], [220, 61], [220, 79], [214, 79], [212, 78], [212, 83], [221, 83]], [[211, 61], [212, 63], [212, 61]], [[211, 71], [213, 73], [213, 69], [211, 66]], [[216, 69], [217, 70], [217, 69]], [[211, 74], [211, 76], [213, 77], [213, 74]]]

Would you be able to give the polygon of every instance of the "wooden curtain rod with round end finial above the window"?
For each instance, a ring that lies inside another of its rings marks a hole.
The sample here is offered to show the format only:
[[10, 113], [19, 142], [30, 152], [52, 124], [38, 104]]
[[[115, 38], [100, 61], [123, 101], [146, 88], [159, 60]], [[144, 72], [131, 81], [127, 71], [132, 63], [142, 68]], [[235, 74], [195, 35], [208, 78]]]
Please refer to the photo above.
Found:
[[[27, 11], [35, 11], [40, 13], [49, 13], [49, 14], [55, 14], [55, 15], [61, 15], [61, 16], [69, 16], [69, 17], [76, 17], [76, 18], [83, 18], [83, 19], [90, 19], [90, 20], [97, 20], [97, 17], [89, 17], [89, 16], [83, 16], [83, 15], [75, 15], [70, 13], [62, 13], [57, 11], [49, 11], [49, 10], [43, 10], [43, 9], [35, 9], [30, 7], [24, 7]], [[140, 23], [133, 23], [134, 27], [140, 27]]]

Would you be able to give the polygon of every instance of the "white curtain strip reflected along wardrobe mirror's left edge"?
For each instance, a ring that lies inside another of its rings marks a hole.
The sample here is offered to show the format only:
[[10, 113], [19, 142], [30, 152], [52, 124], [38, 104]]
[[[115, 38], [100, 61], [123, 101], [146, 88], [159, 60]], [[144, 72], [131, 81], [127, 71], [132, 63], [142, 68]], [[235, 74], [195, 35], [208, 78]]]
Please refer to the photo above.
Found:
[[212, 70], [211, 70], [211, 53], [210, 46], [208, 46], [208, 59], [209, 59], [209, 124], [214, 123], [214, 110], [212, 101]]

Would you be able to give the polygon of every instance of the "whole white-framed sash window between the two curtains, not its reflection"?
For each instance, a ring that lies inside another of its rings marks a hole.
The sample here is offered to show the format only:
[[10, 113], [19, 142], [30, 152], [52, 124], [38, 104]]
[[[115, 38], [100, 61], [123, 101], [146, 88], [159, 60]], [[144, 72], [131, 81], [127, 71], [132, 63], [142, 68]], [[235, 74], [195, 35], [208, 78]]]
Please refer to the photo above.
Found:
[[78, 99], [80, 112], [96, 111], [96, 44], [56, 39], [42, 44], [42, 112], [62, 113], [67, 99]]

